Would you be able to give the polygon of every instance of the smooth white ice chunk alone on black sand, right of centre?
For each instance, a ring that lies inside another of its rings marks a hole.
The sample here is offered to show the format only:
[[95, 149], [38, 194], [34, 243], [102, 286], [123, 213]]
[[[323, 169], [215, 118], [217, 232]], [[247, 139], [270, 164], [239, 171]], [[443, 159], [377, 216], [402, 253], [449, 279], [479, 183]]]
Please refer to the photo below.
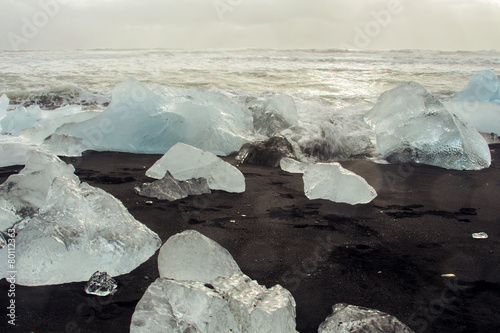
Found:
[[327, 199], [351, 205], [372, 201], [377, 192], [364, 178], [338, 163], [308, 166], [303, 175], [304, 193], [309, 199]]

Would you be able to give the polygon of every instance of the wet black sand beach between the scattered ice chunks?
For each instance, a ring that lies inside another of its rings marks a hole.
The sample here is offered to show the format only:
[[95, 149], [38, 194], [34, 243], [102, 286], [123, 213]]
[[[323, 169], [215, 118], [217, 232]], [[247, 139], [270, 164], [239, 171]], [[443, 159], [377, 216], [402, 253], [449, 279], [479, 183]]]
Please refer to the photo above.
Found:
[[[500, 145], [490, 148], [492, 166], [482, 171], [342, 162], [378, 192], [358, 206], [308, 200], [301, 175], [255, 165], [239, 166], [243, 194], [146, 204], [133, 187], [151, 181], [144, 174], [159, 155], [91, 152], [63, 160], [163, 242], [198, 230], [252, 279], [289, 289], [299, 332], [317, 332], [340, 302], [387, 312], [415, 332], [500, 332]], [[0, 181], [21, 168], [1, 168]], [[473, 239], [474, 232], [489, 238]], [[86, 295], [85, 282], [16, 286], [15, 327], [7, 323], [9, 284], [2, 280], [0, 331], [128, 332], [135, 305], [158, 277], [156, 259], [119, 276], [118, 292], [104, 298]]]

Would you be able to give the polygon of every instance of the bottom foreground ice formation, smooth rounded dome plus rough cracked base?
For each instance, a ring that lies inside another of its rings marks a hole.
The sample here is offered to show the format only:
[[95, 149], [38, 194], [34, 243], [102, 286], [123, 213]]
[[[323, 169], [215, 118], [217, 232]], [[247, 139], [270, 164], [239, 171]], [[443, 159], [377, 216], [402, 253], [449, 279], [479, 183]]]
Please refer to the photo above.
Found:
[[136, 306], [130, 332], [295, 332], [295, 300], [241, 273], [213, 240], [188, 230], [158, 257], [160, 278]]

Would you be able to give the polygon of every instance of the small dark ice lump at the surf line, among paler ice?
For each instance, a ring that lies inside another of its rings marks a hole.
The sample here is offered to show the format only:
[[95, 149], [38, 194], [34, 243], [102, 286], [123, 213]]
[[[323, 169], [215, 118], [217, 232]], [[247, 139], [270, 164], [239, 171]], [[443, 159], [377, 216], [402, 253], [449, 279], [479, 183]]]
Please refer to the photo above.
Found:
[[294, 156], [293, 147], [283, 136], [245, 143], [236, 160], [240, 163], [277, 167], [284, 157]]

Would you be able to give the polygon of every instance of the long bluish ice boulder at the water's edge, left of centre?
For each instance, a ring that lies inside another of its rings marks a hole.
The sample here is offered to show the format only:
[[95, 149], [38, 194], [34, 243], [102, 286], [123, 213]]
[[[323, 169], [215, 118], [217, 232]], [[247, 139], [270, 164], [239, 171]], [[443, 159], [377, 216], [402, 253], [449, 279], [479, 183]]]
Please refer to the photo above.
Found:
[[252, 130], [251, 112], [222, 93], [130, 78], [115, 86], [101, 114], [57, 133], [82, 138], [94, 150], [163, 154], [184, 142], [228, 155], [248, 141]]

